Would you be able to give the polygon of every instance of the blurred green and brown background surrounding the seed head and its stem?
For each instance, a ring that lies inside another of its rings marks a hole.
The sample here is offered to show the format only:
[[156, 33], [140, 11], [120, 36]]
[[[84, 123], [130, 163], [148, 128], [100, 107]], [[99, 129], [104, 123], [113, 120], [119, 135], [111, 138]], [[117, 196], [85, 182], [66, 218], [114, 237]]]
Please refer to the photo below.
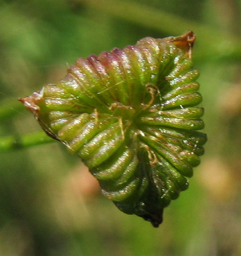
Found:
[[[120, 212], [60, 143], [4, 150], [41, 130], [17, 98], [78, 57], [189, 30], [208, 143], [159, 228]], [[240, 41], [240, 0], [0, 0], [0, 256], [241, 256]]]

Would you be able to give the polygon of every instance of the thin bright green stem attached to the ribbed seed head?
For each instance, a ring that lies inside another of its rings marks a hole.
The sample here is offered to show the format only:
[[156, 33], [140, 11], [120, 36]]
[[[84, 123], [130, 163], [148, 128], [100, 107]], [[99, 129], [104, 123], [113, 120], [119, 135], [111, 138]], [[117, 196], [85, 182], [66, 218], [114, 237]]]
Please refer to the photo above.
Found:
[[0, 152], [28, 148], [35, 145], [46, 144], [54, 141], [55, 140], [48, 137], [44, 133], [44, 131], [38, 131], [22, 136], [10, 135], [6, 137], [0, 137]]

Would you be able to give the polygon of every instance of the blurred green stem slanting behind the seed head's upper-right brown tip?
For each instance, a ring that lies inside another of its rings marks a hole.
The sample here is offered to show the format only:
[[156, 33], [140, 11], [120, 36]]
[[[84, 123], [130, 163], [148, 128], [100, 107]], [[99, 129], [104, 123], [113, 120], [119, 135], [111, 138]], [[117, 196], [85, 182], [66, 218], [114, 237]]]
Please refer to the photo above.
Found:
[[192, 20], [172, 15], [163, 10], [150, 8], [147, 5], [122, 0], [76, 0], [86, 6], [106, 12], [141, 26], [157, 29], [171, 35], [182, 35], [193, 30], [197, 35], [198, 51], [195, 58], [230, 59], [241, 58], [240, 39], [225, 30], [218, 30]]

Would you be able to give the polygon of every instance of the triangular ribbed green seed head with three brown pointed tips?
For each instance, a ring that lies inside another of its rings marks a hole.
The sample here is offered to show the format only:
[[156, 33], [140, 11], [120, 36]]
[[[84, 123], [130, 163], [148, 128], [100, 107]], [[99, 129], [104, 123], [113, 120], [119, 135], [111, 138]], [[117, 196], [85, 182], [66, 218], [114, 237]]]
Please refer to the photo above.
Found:
[[61, 81], [20, 99], [89, 167], [107, 198], [154, 227], [204, 153], [194, 41], [192, 32], [147, 37], [78, 58]]

